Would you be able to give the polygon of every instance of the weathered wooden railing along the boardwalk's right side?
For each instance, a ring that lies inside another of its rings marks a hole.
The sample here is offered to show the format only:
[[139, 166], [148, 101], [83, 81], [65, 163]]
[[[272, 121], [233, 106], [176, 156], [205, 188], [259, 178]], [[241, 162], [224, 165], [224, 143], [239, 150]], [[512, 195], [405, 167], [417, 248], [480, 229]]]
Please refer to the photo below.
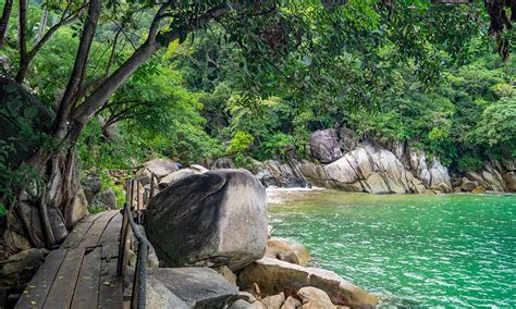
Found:
[[[152, 198], [155, 194], [155, 180], [156, 174], [150, 172], [150, 190], [148, 194], [147, 201]], [[116, 274], [123, 279], [125, 286], [125, 275], [127, 271], [127, 263], [130, 259], [131, 239], [132, 234], [138, 242], [137, 258], [135, 272], [133, 277], [133, 292], [131, 295], [131, 308], [144, 309], [146, 302], [146, 276], [147, 276], [147, 259], [150, 243], [142, 233], [143, 231], [143, 206], [144, 200], [140, 198], [142, 184], [138, 178], [133, 178], [126, 183], [125, 189], [125, 203], [122, 210], [122, 227], [120, 233], [120, 246], [119, 246], [119, 260], [116, 264]], [[135, 189], [136, 189], [136, 207], [135, 201]], [[136, 220], [136, 222], [135, 222]]]

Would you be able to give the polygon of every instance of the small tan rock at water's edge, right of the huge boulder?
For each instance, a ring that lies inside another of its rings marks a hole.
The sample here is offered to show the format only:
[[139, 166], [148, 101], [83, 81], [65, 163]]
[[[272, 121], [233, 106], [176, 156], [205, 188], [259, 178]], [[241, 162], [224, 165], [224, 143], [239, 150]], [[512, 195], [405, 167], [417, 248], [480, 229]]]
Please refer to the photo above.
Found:
[[[288, 244], [278, 238], [267, 240], [266, 257], [304, 265], [310, 259], [310, 252], [300, 244]], [[293, 257], [288, 259], [288, 257]]]

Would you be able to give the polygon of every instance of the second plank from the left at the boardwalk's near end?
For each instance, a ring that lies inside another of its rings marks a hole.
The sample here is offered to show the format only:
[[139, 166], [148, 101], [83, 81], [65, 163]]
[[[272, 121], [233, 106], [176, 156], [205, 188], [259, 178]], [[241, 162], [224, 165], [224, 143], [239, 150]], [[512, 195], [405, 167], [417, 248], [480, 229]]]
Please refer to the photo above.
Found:
[[44, 308], [69, 308], [72, 302], [75, 285], [77, 284], [84, 248], [69, 249], [61, 268], [56, 276]]

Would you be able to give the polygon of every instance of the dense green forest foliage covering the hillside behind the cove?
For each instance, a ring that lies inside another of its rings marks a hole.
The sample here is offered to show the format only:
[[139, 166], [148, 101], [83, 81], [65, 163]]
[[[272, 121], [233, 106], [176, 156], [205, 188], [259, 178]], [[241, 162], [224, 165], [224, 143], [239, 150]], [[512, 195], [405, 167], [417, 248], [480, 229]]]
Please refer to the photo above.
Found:
[[[53, 2], [32, 3], [29, 45], [59, 20]], [[224, 1], [208, 2], [197, 9]], [[493, 53], [483, 5], [380, 2], [271, 1], [267, 11], [265, 1], [261, 11], [246, 8], [192, 34], [172, 21], [180, 38], [140, 65], [84, 129], [84, 170], [130, 169], [156, 156], [308, 158], [314, 131], [343, 125], [411, 140], [459, 170], [515, 156], [514, 61]], [[194, 4], [181, 3], [170, 14], [186, 20]], [[139, 5], [109, 1], [85, 84], [103, 81], [146, 39], [152, 12]], [[78, 16], [59, 27], [26, 72], [24, 83], [54, 110], [83, 24]], [[4, 46], [2, 59], [3, 74], [15, 75], [16, 48]]]

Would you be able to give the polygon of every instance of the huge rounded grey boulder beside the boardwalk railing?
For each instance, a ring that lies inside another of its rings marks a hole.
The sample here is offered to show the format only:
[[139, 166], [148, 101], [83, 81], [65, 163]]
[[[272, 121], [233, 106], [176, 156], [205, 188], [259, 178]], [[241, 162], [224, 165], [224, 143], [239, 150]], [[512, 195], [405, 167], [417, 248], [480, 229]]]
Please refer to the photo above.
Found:
[[144, 224], [161, 264], [235, 271], [263, 255], [266, 190], [243, 170], [191, 175], [150, 200]]

